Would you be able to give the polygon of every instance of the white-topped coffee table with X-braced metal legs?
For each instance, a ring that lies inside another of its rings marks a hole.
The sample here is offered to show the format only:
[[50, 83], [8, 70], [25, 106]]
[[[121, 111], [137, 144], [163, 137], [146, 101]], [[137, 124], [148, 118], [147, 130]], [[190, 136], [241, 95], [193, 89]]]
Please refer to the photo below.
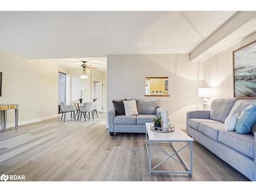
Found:
[[[152, 123], [146, 123], [146, 151], [147, 151], [147, 158], [148, 158], [148, 165], [150, 168], [150, 173], [175, 173], [175, 174], [189, 174], [192, 176], [193, 172], [193, 141], [194, 139], [189, 137], [185, 132], [181, 131], [180, 129], [176, 128], [174, 132], [169, 132], [169, 133], [159, 133], [152, 131], [150, 129], [150, 125]], [[185, 142], [186, 144], [179, 148], [178, 150], [174, 146], [174, 142]], [[169, 154], [163, 148], [161, 145], [168, 145], [172, 147], [174, 153]], [[164, 159], [163, 161], [159, 162], [156, 164], [154, 167], [152, 167], [152, 146], [156, 146], [160, 151], [162, 151], [164, 154], [166, 154], [168, 157]], [[189, 166], [187, 163], [184, 161], [184, 159], [180, 155], [180, 151], [183, 150], [184, 148], [190, 146], [190, 162]], [[174, 156], [177, 155], [179, 160], [175, 159]], [[180, 171], [180, 170], [159, 170], [156, 168], [159, 167], [162, 163], [167, 161], [168, 159], [173, 159], [180, 165], [182, 165], [185, 170]]]

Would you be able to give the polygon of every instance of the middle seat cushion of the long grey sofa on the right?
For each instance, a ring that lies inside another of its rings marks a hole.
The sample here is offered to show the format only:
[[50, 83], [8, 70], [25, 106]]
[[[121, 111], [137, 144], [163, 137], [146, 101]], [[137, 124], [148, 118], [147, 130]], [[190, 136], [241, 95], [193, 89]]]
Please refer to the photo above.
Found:
[[204, 135], [218, 141], [219, 130], [225, 130], [225, 128], [224, 123], [201, 122], [198, 130]]

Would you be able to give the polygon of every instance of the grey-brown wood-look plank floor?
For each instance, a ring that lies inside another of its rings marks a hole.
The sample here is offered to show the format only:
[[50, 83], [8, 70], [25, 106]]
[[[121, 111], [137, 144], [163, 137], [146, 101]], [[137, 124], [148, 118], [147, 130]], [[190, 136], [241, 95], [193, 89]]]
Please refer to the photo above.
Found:
[[[196, 141], [192, 177], [150, 174], [145, 134], [111, 137], [105, 124], [106, 115], [99, 113], [94, 121], [58, 117], [2, 131], [0, 174], [25, 175], [27, 181], [248, 181]], [[181, 155], [189, 162], [189, 148]], [[165, 157], [154, 148], [155, 165]], [[183, 170], [171, 159], [159, 168]]]

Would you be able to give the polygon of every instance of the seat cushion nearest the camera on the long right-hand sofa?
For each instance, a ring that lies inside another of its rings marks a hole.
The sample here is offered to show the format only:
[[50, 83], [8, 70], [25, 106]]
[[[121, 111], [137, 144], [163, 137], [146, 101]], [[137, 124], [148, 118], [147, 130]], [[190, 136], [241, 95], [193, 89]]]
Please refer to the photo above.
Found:
[[237, 134], [236, 131], [226, 132], [220, 130], [218, 141], [253, 158], [254, 138], [252, 134], [241, 135]]

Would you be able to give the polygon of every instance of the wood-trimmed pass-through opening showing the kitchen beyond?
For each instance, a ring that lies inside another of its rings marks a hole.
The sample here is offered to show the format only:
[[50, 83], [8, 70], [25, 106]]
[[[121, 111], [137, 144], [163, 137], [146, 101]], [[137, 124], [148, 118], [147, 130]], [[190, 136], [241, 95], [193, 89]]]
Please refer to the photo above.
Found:
[[145, 96], [168, 97], [168, 77], [145, 77]]

